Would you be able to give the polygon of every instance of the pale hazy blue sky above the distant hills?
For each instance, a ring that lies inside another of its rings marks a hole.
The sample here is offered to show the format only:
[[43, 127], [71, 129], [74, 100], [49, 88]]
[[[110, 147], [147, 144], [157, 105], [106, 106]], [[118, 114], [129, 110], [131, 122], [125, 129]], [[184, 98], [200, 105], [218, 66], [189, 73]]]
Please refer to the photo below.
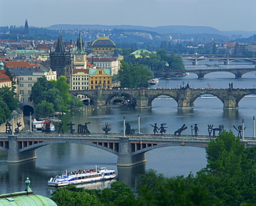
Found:
[[201, 25], [256, 31], [256, 0], [0, 0], [0, 25]]

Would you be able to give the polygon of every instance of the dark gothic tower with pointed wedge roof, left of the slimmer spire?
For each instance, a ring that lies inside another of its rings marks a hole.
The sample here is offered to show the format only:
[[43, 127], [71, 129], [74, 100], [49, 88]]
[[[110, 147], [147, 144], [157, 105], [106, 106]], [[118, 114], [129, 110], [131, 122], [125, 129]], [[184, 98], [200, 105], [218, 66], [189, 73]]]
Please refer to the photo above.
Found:
[[57, 72], [57, 78], [66, 76], [67, 83], [71, 78], [71, 52], [66, 52], [62, 35], [59, 36], [55, 52], [50, 52], [51, 69]]

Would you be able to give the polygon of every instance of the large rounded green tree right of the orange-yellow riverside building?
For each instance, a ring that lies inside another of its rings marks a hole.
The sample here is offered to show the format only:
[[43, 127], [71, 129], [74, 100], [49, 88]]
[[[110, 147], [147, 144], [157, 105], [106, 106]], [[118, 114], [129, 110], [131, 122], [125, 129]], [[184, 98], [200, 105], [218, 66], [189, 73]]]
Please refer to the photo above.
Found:
[[121, 68], [118, 72], [120, 87], [136, 88], [148, 85], [148, 80], [152, 77], [152, 71], [142, 65], [127, 64], [121, 61]]

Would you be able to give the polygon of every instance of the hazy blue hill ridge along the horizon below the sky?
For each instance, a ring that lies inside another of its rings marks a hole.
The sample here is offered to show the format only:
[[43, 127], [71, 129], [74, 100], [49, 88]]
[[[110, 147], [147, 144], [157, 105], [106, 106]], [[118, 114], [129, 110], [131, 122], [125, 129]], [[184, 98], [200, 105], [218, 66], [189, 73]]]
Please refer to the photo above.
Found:
[[256, 31], [220, 31], [209, 26], [190, 26], [190, 25], [163, 25], [157, 27], [148, 27], [140, 25], [73, 25], [73, 24], [55, 24], [48, 29], [123, 29], [123, 30], [144, 30], [157, 32], [159, 34], [221, 34], [231, 37], [232, 34], [241, 34], [242, 37], [250, 37], [256, 34]]

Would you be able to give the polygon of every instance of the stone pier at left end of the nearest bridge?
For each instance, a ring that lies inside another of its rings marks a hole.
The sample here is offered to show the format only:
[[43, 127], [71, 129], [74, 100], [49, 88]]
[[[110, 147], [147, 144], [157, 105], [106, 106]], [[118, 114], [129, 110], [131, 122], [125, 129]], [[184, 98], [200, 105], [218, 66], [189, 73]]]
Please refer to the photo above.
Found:
[[9, 149], [7, 163], [21, 163], [24, 161], [30, 161], [37, 158], [35, 150], [19, 152], [19, 142], [17, 141], [17, 136], [8, 136], [8, 139]]

